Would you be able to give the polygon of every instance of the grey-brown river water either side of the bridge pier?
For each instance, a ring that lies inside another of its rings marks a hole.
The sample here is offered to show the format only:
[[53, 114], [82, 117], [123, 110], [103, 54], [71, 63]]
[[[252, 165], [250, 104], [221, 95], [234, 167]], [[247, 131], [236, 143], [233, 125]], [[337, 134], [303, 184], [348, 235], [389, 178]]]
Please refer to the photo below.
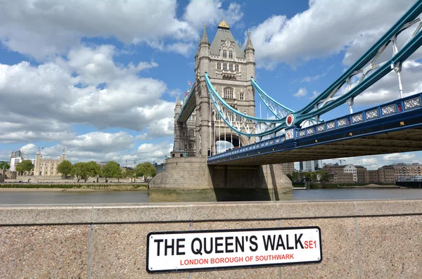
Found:
[[[293, 190], [293, 200], [414, 200], [422, 189]], [[112, 205], [149, 202], [148, 191], [1, 191], [0, 205]]]

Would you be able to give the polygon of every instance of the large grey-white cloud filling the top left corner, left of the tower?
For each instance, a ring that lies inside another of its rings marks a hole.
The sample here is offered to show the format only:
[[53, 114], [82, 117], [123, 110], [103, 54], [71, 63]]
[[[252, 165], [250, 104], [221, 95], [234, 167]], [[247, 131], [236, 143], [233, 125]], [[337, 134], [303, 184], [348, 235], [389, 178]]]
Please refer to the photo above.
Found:
[[176, 18], [176, 9], [176, 0], [2, 1], [0, 40], [44, 59], [65, 53], [82, 37], [115, 37], [125, 44], [198, 37]]

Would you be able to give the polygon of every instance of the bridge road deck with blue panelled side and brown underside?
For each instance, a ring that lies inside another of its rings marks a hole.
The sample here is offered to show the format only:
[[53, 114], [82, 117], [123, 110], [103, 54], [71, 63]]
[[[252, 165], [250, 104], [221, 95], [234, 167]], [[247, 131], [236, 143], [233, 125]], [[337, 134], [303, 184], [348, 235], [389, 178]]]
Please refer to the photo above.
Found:
[[264, 165], [422, 150], [422, 93], [208, 157]]

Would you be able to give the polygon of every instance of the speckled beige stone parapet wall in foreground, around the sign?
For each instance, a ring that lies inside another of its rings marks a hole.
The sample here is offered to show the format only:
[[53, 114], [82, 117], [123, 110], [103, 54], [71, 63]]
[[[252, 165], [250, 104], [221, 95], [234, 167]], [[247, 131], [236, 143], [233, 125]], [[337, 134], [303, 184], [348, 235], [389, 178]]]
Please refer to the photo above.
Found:
[[[319, 226], [323, 260], [149, 274], [158, 231]], [[422, 200], [0, 207], [1, 278], [420, 278]]]

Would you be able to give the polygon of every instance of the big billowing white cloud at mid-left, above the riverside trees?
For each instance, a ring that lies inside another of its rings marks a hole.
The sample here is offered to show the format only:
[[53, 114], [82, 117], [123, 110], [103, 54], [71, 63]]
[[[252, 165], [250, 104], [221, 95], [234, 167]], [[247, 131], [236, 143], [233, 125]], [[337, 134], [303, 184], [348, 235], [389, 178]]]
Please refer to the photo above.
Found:
[[116, 65], [114, 51], [82, 46], [38, 66], [0, 64], [0, 142], [68, 140], [75, 136], [73, 124], [147, 133], [151, 126], [153, 134], [169, 135], [174, 103], [161, 99], [166, 84], [138, 76], [157, 64]]

